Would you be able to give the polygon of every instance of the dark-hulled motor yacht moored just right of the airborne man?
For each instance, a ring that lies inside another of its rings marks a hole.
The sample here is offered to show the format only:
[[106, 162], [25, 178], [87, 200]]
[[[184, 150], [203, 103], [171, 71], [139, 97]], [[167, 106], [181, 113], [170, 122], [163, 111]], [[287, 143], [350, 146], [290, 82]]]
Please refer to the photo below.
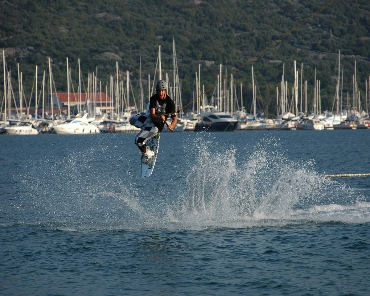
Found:
[[209, 111], [199, 114], [194, 131], [235, 131], [238, 120], [222, 111], [214, 111], [212, 106], [206, 106]]

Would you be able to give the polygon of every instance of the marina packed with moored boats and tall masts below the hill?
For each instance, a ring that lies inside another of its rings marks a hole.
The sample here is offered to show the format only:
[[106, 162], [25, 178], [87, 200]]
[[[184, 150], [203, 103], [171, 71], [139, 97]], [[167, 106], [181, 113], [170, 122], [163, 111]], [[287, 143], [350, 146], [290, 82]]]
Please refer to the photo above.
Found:
[[[176, 60], [175, 40], [173, 40], [174, 60]], [[340, 61], [340, 51], [339, 51]], [[68, 66], [68, 58], [67, 68]], [[139, 100], [132, 90], [131, 78], [129, 72], [125, 72], [125, 77], [118, 75], [120, 72], [118, 61], [116, 62], [116, 80], [110, 75], [110, 81], [105, 85], [105, 92], [102, 92], [102, 81], [97, 81], [96, 74], [88, 73], [87, 92], [71, 92], [70, 85], [73, 81], [70, 78], [70, 70], [67, 71], [67, 92], [52, 92], [53, 76], [49, 62], [49, 93], [45, 91], [46, 73], [43, 73], [41, 87], [38, 87], [38, 70], [34, 80], [35, 96], [34, 109], [31, 109], [32, 96], [27, 102], [24, 97], [22, 87], [22, 75], [19, 75], [19, 100], [14, 96], [11, 85], [10, 72], [6, 71], [5, 52], [3, 51], [3, 77], [4, 77], [4, 96], [1, 101], [0, 127], [1, 134], [38, 134], [38, 133], [134, 133], [138, 129], [129, 124], [129, 118], [136, 114], [145, 114], [148, 112], [144, 109], [148, 98], [154, 92], [154, 82], [157, 71], [159, 79], [162, 79], [161, 66], [161, 46], [158, 50], [157, 66], [155, 68], [153, 84], [151, 87], [150, 75], [148, 77], [148, 96], [145, 99], [143, 89]], [[159, 62], [159, 63], [158, 63]], [[233, 73], [227, 74], [227, 68], [219, 65], [217, 82], [213, 93], [205, 91], [205, 85], [201, 88], [201, 65], [199, 64], [198, 72], [195, 73], [195, 90], [193, 100], [183, 105], [180, 81], [178, 77], [178, 64], [174, 62], [174, 77], [169, 87], [169, 95], [174, 99], [178, 125], [176, 132], [182, 131], [234, 131], [234, 130], [297, 130], [297, 129], [361, 129], [370, 128], [370, 87], [367, 87], [366, 80], [366, 99], [360, 100], [360, 90], [356, 81], [356, 61], [354, 63], [353, 75], [353, 93], [352, 102], [349, 100], [347, 92], [347, 102], [343, 102], [343, 75], [340, 79], [340, 71], [337, 76], [336, 94], [333, 100], [332, 110], [321, 110], [320, 81], [316, 80], [313, 87], [312, 109], [307, 109], [307, 81], [303, 91], [303, 63], [301, 63], [301, 83], [300, 99], [298, 99], [298, 81], [299, 75], [296, 70], [296, 61], [294, 61], [295, 81], [292, 88], [292, 97], [289, 99], [287, 81], [285, 80], [285, 64], [283, 64], [282, 81], [279, 87], [276, 87], [276, 118], [267, 118], [263, 110], [258, 111], [257, 101], [257, 83], [255, 85], [255, 71], [251, 67], [252, 74], [252, 100], [250, 102], [250, 112], [246, 112], [246, 100], [243, 100], [243, 88], [240, 84], [238, 93], [234, 82]], [[19, 64], [18, 64], [19, 67]], [[78, 69], [80, 69], [80, 60], [78, 60]], [[340, 62], [338, 65], [340, 69]], [[224, 73], [225, 72], [225, 73]], [[22, 74], [22, 73], [21, 73]], [[343, 69], [342, 69], [343, 74]], [[81, 73], [78, 74], [77, 89], [81, 90]], [[169, 79], [166, 73], [166, 79]], [[222, 78], [224, 77], [224, 78]], [[125, 78], [125, 80], [124, 80]], [[169, 80], [168, 80], [169, 81]], [[228, 84], [226, 84], [228, 81]], [[125, 87], [124, 87], [125, 83]], [[99, 85], [99, 87], [98, 87]], [[171, 86], [172, 85], [172, 86]], [[227, 87], [228, 85], [228, 87]], [[356, 87], [355, 87], [356, 85]], [[131, 86], [131, 87], [130, 87]], [[370, 86], [370, 76], [369, 76]], [[109, 91], [108, 91], [109, 87]], [[142, 87], [142, 85], [141, 85]], [[38, 92], [37, 88], [40, 88]], [[72, 87], [74, 90], [74, 87]], [[342, 92], [339, 92], [341, 89]], [[54, 86], [55, 90], [55, 86]], [[368, 95], [369, 93], [369, 95]], [[39, 94], [39, 95], [38, 95]], [[305, 94], [305, 95], [303, 95]], [[40, 99], [42, 95], [42, 100]], [[211, 97], [209, 97], [211, 95]], [[45, 98], [49, 97], [50, 100]], [[130, 99], [131, 98], [131, 99]], [[339, 100], [340, 98], [340, 100]], [[260, 98], [262, 101], [262, 98]], [[23, 104], [26, 107], [23, 107]], [[365, 106], [363, 108], [363, 105]], [[343, 108], [345, 106], [345, 108]], [[334, 111], [336, 107], [336, 111]], [[294, 112], [294, 113], [293, 113]], [[72, 121], [71, 121], [72, 120]], [[70, 122], [70, 123], [68, 123]], [[71, 124], [78, 123], [84, 127], [73, 128]], [[67, 125], [69, 124], [69, 125]], [[68, 127], [68, 131], [67, 130]], [[64, 127], [64, 128], [62, 128]], [[166, 130], [166, 129], [165, 129]]]

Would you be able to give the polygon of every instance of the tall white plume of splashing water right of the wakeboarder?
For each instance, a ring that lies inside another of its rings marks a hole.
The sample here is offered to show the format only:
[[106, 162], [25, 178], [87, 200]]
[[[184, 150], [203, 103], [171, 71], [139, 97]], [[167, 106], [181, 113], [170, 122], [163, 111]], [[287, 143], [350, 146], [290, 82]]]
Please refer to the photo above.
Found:
[[[238, 151], [239, 158], [232, 147], [214, 149], [209, 141], [201, 146], [186, 179], [186, 194], [168, 207], [172, 222], [230, 225], [266, 219], [326, 221], [329, 216], [356, 222], [355, 209], [361, 209], [357, 221], [370, 221], [369, 203], [359, 202], [351, 189], [323, 178], [313, 161], [288, 159], [274, 138], [260, 142], [252, 154]], [[330, 210], [328, 205], [336, 203], [347, 204], [346, 215], [320, 215], [320, 207]]]

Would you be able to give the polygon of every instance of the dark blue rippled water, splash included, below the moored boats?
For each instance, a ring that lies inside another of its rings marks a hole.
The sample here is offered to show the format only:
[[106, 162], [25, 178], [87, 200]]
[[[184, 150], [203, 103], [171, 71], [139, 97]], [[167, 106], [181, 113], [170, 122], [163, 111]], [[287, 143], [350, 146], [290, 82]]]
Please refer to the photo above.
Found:
[[369, 139], [0, 136], [0, 295], [370, 295]]

